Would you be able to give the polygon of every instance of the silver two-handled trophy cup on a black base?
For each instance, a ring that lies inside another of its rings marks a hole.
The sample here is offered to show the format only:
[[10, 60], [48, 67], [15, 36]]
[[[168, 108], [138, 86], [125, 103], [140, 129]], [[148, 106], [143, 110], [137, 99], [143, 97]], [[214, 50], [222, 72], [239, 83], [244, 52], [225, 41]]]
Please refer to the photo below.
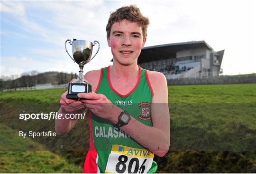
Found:
[[[69, 42], [69, 44], [72, 45], [73, 58], [67, 51], [67, 42]], [[68, 83], [68, 94], [66, 95], [66, 98], [79, 99], [79, 97], [77, 97], [78, 93], [91, 92], [91, 84], [89, 84], [83, 76], [83, 66], [91, 61], [92, 48], [96, 43], [98, 43], [98, 50], [92, 58], [94, 58], [100, 50], [100, 43], [98, 41], [94, 41], [93, 43], [91, 41], [83, 41], [76, 39], [73, 39], [73, 41], [71, 41], [70, 39], [65, 41], [66, 52], [68, 53], [69, 57], [79, 65], [80, 68], [77, 79], [72, 83]]]

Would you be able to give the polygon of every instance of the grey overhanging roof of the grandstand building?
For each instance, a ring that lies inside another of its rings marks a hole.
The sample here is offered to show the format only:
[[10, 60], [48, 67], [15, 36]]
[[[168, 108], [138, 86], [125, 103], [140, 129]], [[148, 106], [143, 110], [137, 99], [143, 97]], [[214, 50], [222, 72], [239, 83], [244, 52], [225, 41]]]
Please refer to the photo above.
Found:
[[207, 48], [213, 50], [205, 41], [187, 41], [179, 43], [168, 43], [145, 47], [141, 50], [138, 63], [165, 58], [176, 58], [176, 52], [180, 50], [190, 50], [197, 48]]

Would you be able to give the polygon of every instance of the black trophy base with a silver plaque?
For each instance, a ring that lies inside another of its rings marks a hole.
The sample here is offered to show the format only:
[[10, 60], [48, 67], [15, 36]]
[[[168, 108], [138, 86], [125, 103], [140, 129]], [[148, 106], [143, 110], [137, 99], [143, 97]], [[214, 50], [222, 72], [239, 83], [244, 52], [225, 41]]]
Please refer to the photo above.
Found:
[[91, 92], [91, 84], [89, 83], [68, 83], [68, 99], [79, 99], [78, 93], [89, 93]]

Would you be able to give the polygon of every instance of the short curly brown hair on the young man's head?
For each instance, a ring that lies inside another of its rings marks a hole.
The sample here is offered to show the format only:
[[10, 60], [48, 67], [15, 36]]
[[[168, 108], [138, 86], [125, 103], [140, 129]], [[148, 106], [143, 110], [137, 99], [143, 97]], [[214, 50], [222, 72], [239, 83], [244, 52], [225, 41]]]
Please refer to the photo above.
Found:
[[110, 30], [112, 25], [115, 22], [121, 22], [125, 19], [130, 22], [136, 22], [139, 26], [141, 26], [143, 38], [147, 36], [147, 26], [149, 25], [149, 19], [142, 15], [140, 9], [137, 8], [136, 5], [130, 5], [118, 8], [116, 11], [110, 14], [110, 18], [106, 26], [108, 38], [110, 37]]

